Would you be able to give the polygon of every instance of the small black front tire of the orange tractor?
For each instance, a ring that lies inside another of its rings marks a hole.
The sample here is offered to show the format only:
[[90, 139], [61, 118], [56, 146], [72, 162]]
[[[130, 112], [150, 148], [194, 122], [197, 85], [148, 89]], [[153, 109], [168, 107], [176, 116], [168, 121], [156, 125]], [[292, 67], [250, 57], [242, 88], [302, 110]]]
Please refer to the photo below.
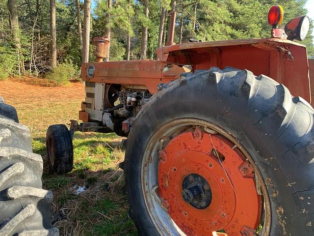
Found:
[[49, 126], [46, 134], [49, 173], [65, 174], [73, 169], [73, 144], [64, 124]]

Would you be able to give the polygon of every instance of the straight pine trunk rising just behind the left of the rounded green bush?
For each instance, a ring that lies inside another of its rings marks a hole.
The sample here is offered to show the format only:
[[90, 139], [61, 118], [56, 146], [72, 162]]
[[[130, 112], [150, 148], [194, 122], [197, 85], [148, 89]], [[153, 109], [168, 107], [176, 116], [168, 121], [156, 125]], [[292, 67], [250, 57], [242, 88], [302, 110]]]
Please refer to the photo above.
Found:
[[52, 58], [51, 66], [52, 69], [57, 66], [57, 39], [56, 39], [56, 28], [55, 28], [55, 0], [50, 0], [50, 55]]

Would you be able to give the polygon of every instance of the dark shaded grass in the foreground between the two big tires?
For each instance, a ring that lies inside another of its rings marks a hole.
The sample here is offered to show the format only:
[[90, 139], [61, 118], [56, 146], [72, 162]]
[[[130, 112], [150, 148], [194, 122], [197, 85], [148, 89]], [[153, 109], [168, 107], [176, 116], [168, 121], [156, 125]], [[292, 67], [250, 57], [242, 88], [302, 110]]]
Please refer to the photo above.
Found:
[[[62, 235], [136, 236], [128, 216], [129, 205], [122, 191], [119, 169], [75, 170], [65, 175], [45, 175], [44, 186], [54, 194], [52, 223]], [[78, 189], [84, 189], [78, 193]]]

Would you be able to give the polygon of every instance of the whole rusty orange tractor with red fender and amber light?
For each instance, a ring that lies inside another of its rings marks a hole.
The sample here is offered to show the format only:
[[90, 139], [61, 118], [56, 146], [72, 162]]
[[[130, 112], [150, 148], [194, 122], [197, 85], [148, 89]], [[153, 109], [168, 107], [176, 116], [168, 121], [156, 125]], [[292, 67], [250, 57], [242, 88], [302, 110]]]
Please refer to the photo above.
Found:
[[292, 41], [309, 18], [278, 28], [273, 6], [271, 38], [176, 45], [175, 15], [157, 60], [103, 62], [109, 41], [94, 39], [83, 122], [49, 127], [50, 171], [72, 170], [75, 131], [115, 132], [139, 235], [313, 236], [309, 63]]

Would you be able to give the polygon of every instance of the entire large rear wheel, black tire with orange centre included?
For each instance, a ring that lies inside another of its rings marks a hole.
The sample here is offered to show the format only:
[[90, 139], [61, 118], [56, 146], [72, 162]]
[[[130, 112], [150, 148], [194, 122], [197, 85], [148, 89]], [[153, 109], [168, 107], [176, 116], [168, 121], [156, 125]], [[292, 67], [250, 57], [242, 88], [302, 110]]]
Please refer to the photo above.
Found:
[[247, 70], [162, 87], [132, 123], [121, 163], [139, 235], [313, 236], [313, 114]]

